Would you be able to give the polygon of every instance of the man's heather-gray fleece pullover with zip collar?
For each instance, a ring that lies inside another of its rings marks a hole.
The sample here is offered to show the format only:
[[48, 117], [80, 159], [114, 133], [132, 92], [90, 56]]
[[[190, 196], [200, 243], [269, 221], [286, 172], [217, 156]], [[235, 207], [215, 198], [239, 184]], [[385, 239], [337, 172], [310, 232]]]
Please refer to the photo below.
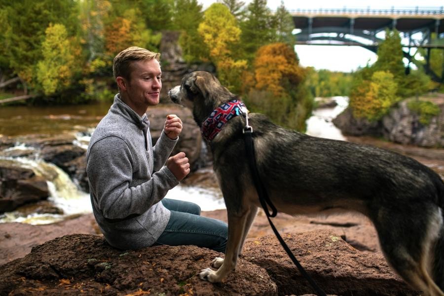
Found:
[[165, 230], [170, 211], [159, 201], [179, 184], [164, 166], [177, 141], [162, 132], [152, 147], [147, 115], [114, 97], [86, 152], [94, 217], [111, 246], [151, 246]]

